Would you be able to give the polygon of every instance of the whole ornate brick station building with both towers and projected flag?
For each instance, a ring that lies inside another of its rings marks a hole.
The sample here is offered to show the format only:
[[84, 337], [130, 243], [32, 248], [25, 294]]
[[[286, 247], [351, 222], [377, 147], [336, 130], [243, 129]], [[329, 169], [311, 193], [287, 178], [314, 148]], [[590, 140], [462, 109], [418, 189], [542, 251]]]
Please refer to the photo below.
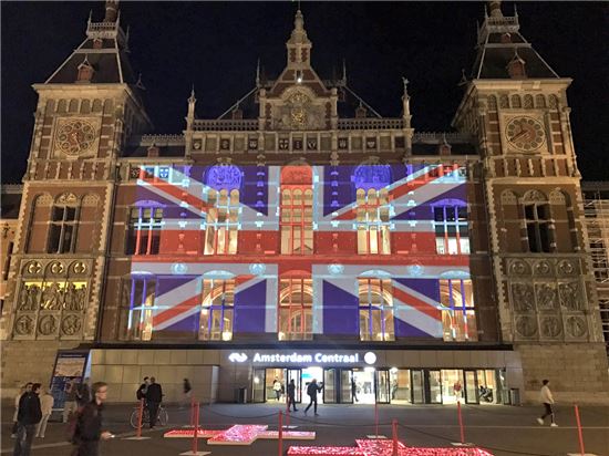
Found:
[[406, 81], [383, 118], [344, 75], [321, 80], [297, 12], [276, 80], [216, 120], [193, 91], [183, 134], [153, 135], [106, 2], [34, 85], [1, 329], [9, 362], [44, 349], [4, 384], [45, 382], [73, 352], [116, 401], [144, 375], [169, 400], [183, 377], [257, 402], [275, 377], [299, 396], [317, 377], [330, 403], [478, 403], [479, 386], [508, 403], [551, 377], [559, 397], [607, 401], [570, 80], [491, 3], [454, 133], [414, 132]]

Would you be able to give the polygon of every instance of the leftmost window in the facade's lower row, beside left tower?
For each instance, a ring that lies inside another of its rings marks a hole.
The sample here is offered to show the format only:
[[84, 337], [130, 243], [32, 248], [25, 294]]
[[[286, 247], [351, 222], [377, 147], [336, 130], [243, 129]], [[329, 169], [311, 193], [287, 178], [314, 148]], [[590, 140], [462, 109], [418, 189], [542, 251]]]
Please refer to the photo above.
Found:
[[134, 277], [127, 286], [130, 287], [127, 339], [149, 341], [153, 334], [156, 279], [153, 277]]

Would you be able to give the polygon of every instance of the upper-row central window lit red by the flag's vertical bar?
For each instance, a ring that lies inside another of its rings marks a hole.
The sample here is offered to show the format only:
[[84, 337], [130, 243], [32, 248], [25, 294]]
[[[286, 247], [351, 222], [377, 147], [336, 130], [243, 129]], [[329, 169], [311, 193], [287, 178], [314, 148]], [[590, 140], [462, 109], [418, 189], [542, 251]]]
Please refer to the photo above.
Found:
[[309, 166], [286, 166], [281, 170], [281, 253], [313, 252], [313, 189]]

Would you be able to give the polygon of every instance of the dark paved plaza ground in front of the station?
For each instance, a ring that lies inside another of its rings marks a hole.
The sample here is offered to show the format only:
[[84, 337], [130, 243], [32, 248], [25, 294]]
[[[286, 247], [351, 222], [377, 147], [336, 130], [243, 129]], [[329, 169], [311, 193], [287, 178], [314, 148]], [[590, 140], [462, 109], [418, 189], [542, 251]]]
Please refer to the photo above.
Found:
[[[298, 431], [314, 431], [317, 438], [283, 442], [287, 454], [290, 445], [355, 446], [355, 438], [375, 434], [373, 405], [322, 405], [319, 416], [298, 412], [290, 415], [290, 424]], [[189, 424], [190, 411], [169, 404], [169, 425], [143, 429], [144, 441], [126, 441], [134, 435], [128, 418], [133, 405], [109, 404], [104, 411], [105, 427], [117, 437], [101, 444], [101, 456], [177, 456], [192, 448], [192, 439], [164, 438], [166, 431]], [[266, 424], [278, 427], [278, 412], [283, 404], [213, 404], [202, 406], [199, 423], [204, 428], [225, 429], [235, 424]], [[541, 407], [512, 407], [505, 405], [462, 405], [464, 436], [467, 443], [487, 449], [497, 456], [566, 456], [580, 454], [576, 417], [571, 406], [557, 406], [559, 427], [537, 424]], [[586, 453], [609, 456], [609, 407], [582, 406], [579, 408]], [[457, 407], [455, 405], [379, 405], [379, 434], [391, 438], [392, 419], [396, 419], [398, 434], [407, 446], [450, 447], [460, 442]], [[9, 437], [12, 418], [10, 406], [2, 407], [1, 454], [11, 454], [14, 441]], [[58, 415], [59, 418], [59, 415]], [[285, 417], [283, 417], [285, 419]], [[64, 441], [65, 425], [50, 422], [44, 439], [35, 438], [32, 456], [68, 456], [72, 449]], [[211, 456], [278, 455], [277, 441], [257, 441], [250, 446], [209, 446], [198, 441], [199, 452]]]

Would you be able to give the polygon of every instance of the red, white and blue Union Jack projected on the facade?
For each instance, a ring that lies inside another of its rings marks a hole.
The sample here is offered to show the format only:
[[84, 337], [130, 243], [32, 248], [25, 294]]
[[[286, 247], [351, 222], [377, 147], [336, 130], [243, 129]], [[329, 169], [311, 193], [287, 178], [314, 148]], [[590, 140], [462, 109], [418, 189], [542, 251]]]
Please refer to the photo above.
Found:
[[476, 338], [457, 165], [136, 173], [126, 293], [144, 339]]

